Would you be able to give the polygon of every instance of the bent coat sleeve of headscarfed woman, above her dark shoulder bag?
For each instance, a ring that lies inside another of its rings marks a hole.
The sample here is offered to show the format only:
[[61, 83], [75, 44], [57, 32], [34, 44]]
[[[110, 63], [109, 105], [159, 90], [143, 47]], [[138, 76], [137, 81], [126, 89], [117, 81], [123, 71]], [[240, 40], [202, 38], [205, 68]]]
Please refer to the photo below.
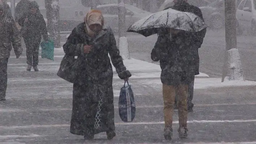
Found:
[[67, 42], [63, 45], [63, 50], [65, 54], [75, 55], [75, 56], [78, 56], [78, 54], [81, 54], [84, 45], [77, 43], [78, 39], [79, 38], [77, 37], [77, 34], [76, 34], [76, 28], [74, 28], [71, 34], [68, 36]]

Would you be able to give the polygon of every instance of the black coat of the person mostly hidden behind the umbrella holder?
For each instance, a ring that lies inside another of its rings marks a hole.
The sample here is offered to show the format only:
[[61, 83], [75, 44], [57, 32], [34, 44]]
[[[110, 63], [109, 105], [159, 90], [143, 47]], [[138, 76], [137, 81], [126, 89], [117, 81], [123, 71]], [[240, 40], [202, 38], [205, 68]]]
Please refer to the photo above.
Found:
[[[178, 4], [175, 4], [171, 7], [169, 7], [171, 9], [175, 9], [175, 10], [179, 10], [182, 12], [189, 12], [189, 13], [193, 13], [196, 14], [197, 16], [199, 16], [203, 21], [204, 18], [202, 17], [202, 12], [200, 10], [200, 8], [198, 8], [197, 6], [194, 5], [190, 5], [188, 3], [185, 3], [183, 1], [181, 1]], [[168, 9], [168, 8], [166, 8]], [[195, 55], [195, 75], [199, 75], [199, 54], [198, 54], [198, 49], [201, 47], [204, 37], [206, 34], [206, 28], [204, 30], [201, 30], [199, 32], [196, 32], [193, 34], [193, 47], [192, 47], [192, 53], [193, 55]]]

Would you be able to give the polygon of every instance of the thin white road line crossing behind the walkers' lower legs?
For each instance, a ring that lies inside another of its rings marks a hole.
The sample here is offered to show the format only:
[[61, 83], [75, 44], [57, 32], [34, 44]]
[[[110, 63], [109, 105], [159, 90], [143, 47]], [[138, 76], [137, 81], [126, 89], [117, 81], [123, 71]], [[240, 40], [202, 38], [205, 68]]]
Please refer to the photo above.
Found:
[[[242, 122], [256, 122], [256, 119], [236, 119], [236, 120], [200, 120], [200, 121], [187, 121], [187, 123], [242, 123]], [[165, 122], [127, 122], [115, 123], [115, 125], [159, 125]], [[172, 122], [179, 124], [179, 121]], [[27, 126], [0, 126], [0, 129], [13, 130], [13, 129], [27, 129], [27, 128], [47, 128], [47, 127], [70, 127], [69, 124], [61, 125], [27, 125]]]

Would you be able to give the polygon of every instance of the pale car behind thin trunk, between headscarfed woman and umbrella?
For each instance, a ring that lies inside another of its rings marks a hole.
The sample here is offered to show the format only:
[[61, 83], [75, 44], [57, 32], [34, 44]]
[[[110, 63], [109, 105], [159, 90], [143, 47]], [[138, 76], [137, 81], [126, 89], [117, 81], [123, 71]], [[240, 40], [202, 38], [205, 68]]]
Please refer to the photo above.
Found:
[[[133, 5], [125, 4], [124, 6], [126, 9], [125, 29], [128, 29], [129, 26], [139, 19], [151, 14]], [[97, 9], [103, 13], [104, 23], [110, 26], [114, 32], [118, 31], [118, 4], [98, 5]]]

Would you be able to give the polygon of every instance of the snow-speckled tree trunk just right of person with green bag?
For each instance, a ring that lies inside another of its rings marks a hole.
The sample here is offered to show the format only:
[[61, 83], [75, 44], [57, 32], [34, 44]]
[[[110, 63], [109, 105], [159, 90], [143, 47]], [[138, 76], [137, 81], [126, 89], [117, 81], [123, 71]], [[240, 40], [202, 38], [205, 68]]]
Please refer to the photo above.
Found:
[[45, 0], [47, 31], [54, 40], [55, 48], [60, 48], [60, 31], [59, 31], [59, 0]]

